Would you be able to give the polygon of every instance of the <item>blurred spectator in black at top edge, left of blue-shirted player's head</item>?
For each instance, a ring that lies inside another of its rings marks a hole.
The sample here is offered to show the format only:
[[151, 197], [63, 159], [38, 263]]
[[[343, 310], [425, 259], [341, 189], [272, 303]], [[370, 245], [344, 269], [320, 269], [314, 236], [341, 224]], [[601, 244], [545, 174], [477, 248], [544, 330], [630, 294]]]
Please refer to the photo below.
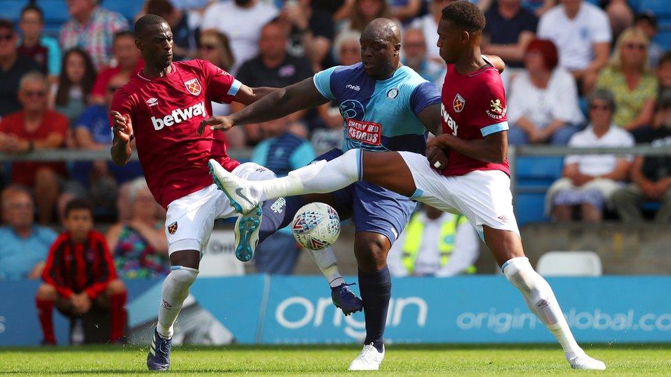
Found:
[[314, 71], [325, 66], [333, 41], [333, 19], [327, 10], [312, 8], [311, 0], [285, 1], [281, 21], [289, 32], [289, 54], [305, 56]]

